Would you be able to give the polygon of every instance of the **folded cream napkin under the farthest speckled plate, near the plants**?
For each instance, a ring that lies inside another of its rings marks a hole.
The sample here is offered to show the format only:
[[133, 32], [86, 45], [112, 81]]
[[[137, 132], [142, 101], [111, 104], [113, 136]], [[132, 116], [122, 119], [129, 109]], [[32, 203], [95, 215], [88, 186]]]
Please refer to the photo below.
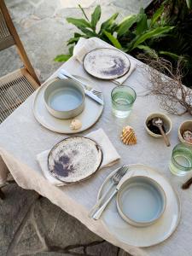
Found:
[[[84, 60], [84, 55], [90, 52], [90, 50], [98, 49], [98, 48], [114, 48], [114, 47], [102, 41], [99, 38], [89, 38], [89, 39], [80, 38], [78, 41], [78, 44], [76, 44], [73, 49], [73, 56], [82, 63]], [[133, 61], [131, 61], [131, 67], [128, 73], [125, 73], [125, 75], [119, 79], [114, 79], [113, 83], [123, 84], [135, 69], [136, 69], [136, 64]]]

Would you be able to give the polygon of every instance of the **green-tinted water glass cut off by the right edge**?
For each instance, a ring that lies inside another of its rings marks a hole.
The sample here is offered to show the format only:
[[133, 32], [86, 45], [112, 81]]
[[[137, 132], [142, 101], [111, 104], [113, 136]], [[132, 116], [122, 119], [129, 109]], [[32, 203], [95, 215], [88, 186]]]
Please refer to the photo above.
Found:
[[177, 176], [184, 176], [192, 171], [192, 145], [179, 143], [173, 148], [169, 169]]

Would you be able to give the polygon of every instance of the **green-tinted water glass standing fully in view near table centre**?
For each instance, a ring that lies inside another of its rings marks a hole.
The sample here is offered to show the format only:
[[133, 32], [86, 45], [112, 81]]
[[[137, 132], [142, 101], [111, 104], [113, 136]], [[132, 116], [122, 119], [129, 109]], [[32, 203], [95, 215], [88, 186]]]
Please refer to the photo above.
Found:
[[115, 87], [111, 92], [113, 114], [118, 118], [128, 117], [136, 98], [137, 94], [130, 86]]

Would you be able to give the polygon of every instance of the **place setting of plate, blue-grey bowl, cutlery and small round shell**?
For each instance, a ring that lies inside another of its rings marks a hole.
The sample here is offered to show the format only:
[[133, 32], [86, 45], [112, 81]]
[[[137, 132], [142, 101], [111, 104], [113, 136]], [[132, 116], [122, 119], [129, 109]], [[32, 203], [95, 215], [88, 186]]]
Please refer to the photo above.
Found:
[[73, 134], [87, 130], [104, 108], [102, 91], [90, 84], [81, 76], [67, 78], [61, 70], [57, 78], [39, 88], [33, 102], [35, 118], [50, 131]]

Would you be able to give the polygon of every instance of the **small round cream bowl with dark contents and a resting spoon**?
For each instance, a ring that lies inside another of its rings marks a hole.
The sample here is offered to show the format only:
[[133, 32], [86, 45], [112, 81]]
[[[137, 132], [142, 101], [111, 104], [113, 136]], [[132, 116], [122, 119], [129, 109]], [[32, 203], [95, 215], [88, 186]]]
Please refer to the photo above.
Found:
[[160, 117], [160, 119], [163, 120], [163, 124], [166, 129], [166, 135], [168, 135], [170, 131], [172, 131], [172, 120], [165, 113], [150, 113], [145, 120], [146, 131], [148, 131], [148, 134], [152, 137], [162, 137], [161, 134], [156, 134], [148, 129], [148, 121], [157, 117]]

